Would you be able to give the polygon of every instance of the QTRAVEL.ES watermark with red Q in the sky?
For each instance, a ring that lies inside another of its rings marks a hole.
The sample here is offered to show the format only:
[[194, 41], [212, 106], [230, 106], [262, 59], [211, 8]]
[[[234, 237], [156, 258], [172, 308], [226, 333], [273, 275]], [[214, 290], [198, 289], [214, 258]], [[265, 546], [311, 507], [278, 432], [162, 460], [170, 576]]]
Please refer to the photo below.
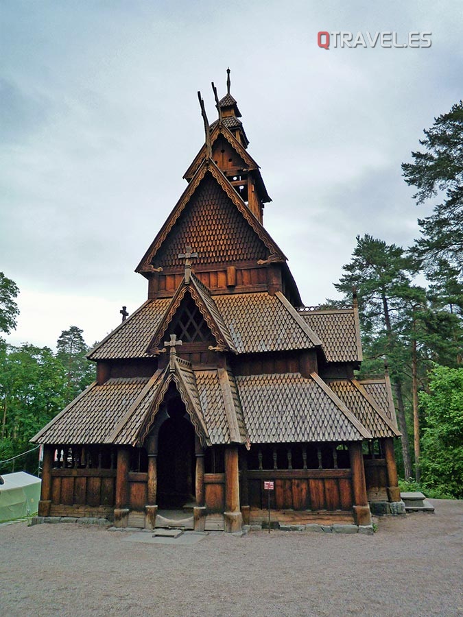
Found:
[[[317, 45], [330, 47], [431, 47], [431, 32], [409, 32], [407, 43], [401, 42], [396, 32], [327, 32], [317, 34]], [[403, 39], [402, 39], [403, 40]]]

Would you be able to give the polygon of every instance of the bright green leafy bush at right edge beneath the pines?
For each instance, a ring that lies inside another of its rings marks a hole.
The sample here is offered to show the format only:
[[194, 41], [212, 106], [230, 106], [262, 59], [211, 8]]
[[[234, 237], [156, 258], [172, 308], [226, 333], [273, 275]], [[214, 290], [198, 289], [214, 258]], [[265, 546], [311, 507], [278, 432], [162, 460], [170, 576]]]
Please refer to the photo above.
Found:
[[425, 417], [421, 457], [423, 482], [463, 498], [463, 369], [436, 366], [429, 393], [420, 392]]

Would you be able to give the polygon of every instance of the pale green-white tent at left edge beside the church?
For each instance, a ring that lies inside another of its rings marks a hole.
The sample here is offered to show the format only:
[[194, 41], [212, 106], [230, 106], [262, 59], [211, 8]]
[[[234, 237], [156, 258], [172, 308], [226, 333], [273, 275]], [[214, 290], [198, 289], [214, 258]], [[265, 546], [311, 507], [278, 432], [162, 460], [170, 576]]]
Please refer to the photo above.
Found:
[[42, 481], [26, 472], [3, 474], [0, 484], [0, 522], [35, 514]]

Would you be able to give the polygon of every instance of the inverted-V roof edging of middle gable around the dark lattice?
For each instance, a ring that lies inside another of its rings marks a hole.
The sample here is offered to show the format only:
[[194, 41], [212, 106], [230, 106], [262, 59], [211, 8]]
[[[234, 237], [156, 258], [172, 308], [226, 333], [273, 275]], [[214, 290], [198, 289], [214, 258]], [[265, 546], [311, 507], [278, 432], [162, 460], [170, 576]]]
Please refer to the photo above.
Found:
[[147, 353], [156, 353], [158, 352], [158, 348], [163, 347], [162, 339], [165, 332], [174, 317], [178, 314], [178, 311], [181, 310], [182, 300], [184, 300], [187, 293], [191, 295], [193, 302], [195, 302], [196, 306], [198, 306], [204, 321], [215, 338], [217, 346], [223, 348], [223, 350], [229, 350], [237, 353], [230, 332], [228, 332], [224, 320], [222, 319], [222, 315], [220, 315], [215, 302], [211, 298], [209, 289], [207, 289], [207, 287], [203, 285], [202, 282], [200, 282], [200, 280], [198, 280], [198, 278], [196, 278], [193, 274], [190, 276], [189, 283], [185, 282], [185, 278], [183, 278], [182, 282], [178, 286], [178, 289], [174, 294], [174, 298], [172, 298], [169, 306], [167, 307], [163, 318], [158, 324], [156, 332], [154, 332], [150, 344], [147, 347]]

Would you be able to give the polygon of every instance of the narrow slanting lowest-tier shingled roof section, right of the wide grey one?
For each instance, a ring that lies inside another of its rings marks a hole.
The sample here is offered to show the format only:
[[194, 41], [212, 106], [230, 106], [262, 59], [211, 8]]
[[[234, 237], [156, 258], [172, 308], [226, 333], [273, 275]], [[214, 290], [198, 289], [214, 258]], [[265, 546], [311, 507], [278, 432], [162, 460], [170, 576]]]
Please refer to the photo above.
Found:
[[373, 437], [398, 437], [394, 423], [356, 379], [327, 380], [329, 387], [368, 428]]

